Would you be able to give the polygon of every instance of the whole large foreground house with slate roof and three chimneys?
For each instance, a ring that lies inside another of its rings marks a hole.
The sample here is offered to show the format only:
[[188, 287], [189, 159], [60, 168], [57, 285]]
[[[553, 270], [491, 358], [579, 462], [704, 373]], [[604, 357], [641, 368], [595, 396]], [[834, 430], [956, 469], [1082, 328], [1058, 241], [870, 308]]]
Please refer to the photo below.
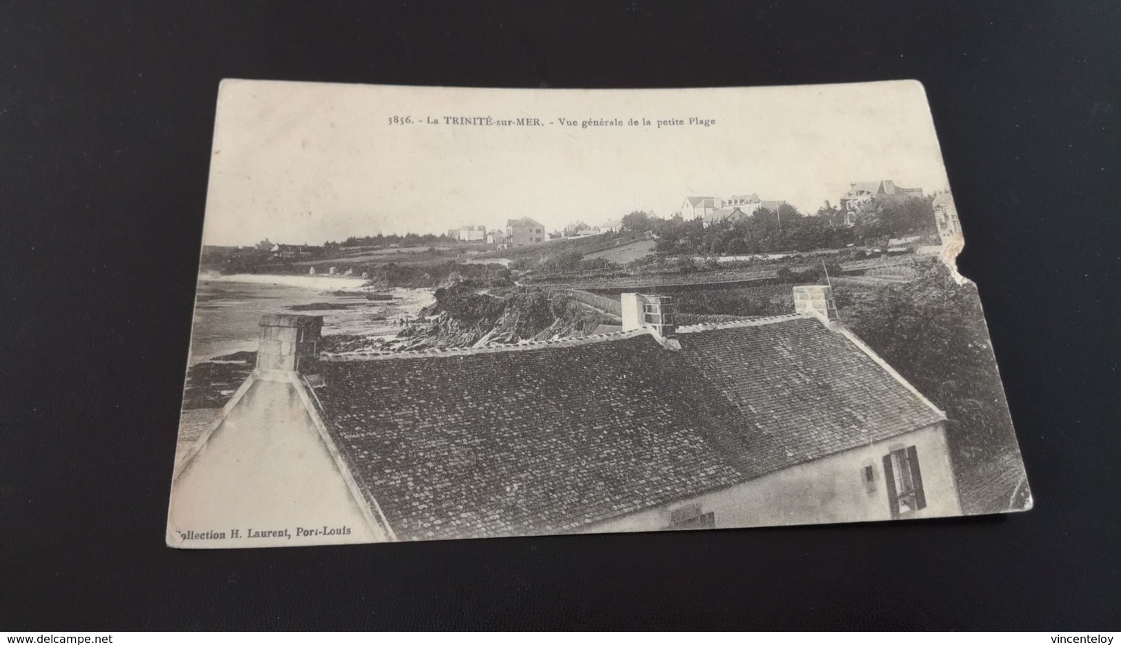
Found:
[[794, 296], [791, 315], [680, 326], [668, 296], [623, 294], [615, 333], [363, 356], [321, 356], [319, 316], [265, 316], [257, 369], [176, 471], [168, 543], [960, 515], [943, 412], [830, 287]]

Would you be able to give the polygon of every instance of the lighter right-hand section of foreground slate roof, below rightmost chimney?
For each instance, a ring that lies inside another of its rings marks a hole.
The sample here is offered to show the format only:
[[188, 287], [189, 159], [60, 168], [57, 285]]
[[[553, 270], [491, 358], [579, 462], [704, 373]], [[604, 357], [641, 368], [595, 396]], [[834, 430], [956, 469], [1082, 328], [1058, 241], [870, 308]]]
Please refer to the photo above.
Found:
[[685, 360], [739, 414], [734, 441], [729, 443], [729, 433], [716, 439], [747, 478], [945, 418], [849, 338], [815, 319], [677, 338]]

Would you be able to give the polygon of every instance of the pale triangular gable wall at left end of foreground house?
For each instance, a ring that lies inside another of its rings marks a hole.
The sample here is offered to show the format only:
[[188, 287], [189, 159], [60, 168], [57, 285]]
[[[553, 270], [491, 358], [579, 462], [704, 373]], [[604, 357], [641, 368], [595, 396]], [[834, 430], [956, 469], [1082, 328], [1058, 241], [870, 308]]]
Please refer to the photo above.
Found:
[[[350, 474], [336, 462], [294, 378], [253, 376], [247, 386], [176, 476], [168, 545], [222, 549], [386, 540], [355, 500]], [[302, 536], [298, 528], [321, 533]], [[251, 533], [285, 529], [287, 537]]]

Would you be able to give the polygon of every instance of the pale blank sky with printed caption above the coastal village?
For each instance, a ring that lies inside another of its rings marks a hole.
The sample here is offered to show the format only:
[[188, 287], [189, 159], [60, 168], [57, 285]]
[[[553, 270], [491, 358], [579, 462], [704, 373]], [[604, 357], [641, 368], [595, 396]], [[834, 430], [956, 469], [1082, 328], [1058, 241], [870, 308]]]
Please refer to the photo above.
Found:
[[[487, 117], [539, 125], [451, 121]], [[622, 125], [582, 127], [591, 119]], [[203, 240], [318, 245], [521, 216], [555, 230], [636, 210], [669, 216], [687, 195], [758, 193], [813, 213], [877, 179], [948, 187], [915, 81], [487, 90], [226, 80]]]

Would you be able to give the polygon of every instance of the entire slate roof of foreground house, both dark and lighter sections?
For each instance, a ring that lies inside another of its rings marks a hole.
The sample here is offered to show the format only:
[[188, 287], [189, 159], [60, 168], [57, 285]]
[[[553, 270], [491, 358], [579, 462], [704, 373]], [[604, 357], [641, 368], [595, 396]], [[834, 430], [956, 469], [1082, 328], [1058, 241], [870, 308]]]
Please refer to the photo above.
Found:
[[944, 418], [815, 319], [682, 331], [326, 361], [314, 391], [404, 540], [576, 531]]

